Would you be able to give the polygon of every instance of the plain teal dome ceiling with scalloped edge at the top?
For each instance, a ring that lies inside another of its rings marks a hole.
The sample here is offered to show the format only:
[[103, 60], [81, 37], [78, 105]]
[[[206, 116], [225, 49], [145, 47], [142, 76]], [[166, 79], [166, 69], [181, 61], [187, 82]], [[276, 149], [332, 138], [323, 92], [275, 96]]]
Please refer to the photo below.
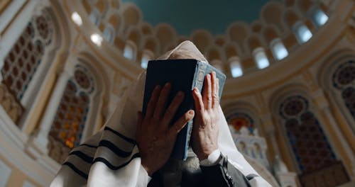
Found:
[[270, 0], [122, 0], [136, 4], [143, 20], [156, 26], [169, 23], [180, 35], [192, 30], [209, 30], [212, 35], [223, 34], [234, 21], [251, 23], [259, 17], [261, 8]]

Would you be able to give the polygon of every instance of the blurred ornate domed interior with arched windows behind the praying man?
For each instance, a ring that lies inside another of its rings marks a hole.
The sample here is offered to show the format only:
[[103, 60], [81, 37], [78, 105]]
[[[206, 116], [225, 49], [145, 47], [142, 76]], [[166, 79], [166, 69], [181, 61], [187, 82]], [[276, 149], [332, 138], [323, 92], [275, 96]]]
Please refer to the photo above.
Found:
[[354, 0], [1, 0], [0, 187], [48, 186], [184, 40], [227, 76], [239, 151], [273, 186], [355, 186]]

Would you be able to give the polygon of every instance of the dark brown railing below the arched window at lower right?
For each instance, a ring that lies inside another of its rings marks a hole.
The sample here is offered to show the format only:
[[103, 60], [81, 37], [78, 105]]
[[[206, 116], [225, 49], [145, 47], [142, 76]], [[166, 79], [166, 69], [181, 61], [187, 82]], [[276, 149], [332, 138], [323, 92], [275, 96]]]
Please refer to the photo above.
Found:
[[299, 178], [303, 187], [333, 187], [350, 181], [342, 162], [334, 162], [322, 169], [301, 174]]

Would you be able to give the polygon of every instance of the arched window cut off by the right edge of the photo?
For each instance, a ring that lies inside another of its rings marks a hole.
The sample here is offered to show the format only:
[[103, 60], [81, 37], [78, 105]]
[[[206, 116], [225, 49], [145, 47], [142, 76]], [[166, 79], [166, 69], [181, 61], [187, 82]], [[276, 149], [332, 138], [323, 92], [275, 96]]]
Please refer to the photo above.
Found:
[[[341, 95], [341, 100], [355, 120], [355, 60], [347, 60], [337, 66], [332, 75], [332, 85]], [[351, 117], [350, 117], [351, 118]], [[354, 123], [350, 123], [351, 129], [355, 133]]]

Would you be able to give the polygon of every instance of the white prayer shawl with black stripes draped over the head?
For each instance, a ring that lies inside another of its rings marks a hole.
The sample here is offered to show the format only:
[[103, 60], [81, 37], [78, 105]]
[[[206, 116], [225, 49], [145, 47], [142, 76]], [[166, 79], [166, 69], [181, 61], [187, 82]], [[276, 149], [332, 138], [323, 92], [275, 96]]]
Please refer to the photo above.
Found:
[[[190, 41], [182, 42], [159, 59], [197, 59], [207, 62]], [[72, 149], [51, 186], [147, 186], [151, 178], [141, 166], [141, 155], [135, 141], [136, 112], [142, 108], [145, 79], [146, 72], [142, 72], [122, 96], [104, 128]], [[236, 149], [220, 107], [219, 112], [222, 115], [219, 150], [244, 176], [256, 175], [249, 181], [251, 186], [270, 186]]]

